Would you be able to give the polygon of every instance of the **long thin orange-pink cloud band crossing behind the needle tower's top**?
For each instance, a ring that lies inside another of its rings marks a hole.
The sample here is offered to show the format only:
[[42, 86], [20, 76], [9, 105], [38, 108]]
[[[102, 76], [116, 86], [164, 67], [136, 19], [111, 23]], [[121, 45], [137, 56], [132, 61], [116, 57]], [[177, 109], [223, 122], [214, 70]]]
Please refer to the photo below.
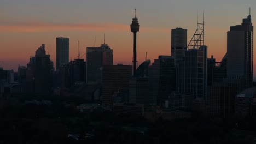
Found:
[[[50, 32], [50, 31], [119, 31], [129, 32], [130, 25], [120, 23], [46, 23], [40, 21], [14, 22], [0, 24], [1, 32]], [[143, 32], [170, 32], [164, 28], [141, 27]]]

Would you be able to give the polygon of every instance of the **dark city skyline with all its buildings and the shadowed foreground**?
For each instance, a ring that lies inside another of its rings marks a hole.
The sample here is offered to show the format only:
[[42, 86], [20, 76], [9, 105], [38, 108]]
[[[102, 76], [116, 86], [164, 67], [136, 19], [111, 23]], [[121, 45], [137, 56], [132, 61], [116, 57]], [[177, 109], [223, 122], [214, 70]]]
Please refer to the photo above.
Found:
[[114, 65], [105, 41], [68, 61], [60, 37], [56, 71], [44, 44], [18, 72], [0, 68], [0, 143], [255, 143], [251, 15], [230, 27], [220, 62], [207, 57], [203, 20], [188, 45], [187, 29], [172, 29], [171, 55], [146, 53], [137, 68], [136, 14], [130, 28], [132, 65]]

